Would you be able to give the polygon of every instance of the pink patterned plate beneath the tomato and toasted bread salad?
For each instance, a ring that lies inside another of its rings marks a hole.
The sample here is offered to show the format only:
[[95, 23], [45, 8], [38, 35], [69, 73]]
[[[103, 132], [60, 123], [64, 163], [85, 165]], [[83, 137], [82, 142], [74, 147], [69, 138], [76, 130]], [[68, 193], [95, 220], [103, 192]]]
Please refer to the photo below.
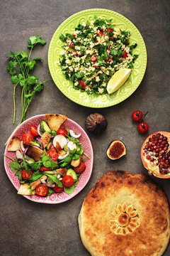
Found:
[[[17, 135], [19, 138], [21, 138], [21, 135], [23, 134], [23, 132], [28, 132], [30, 127], [33, 124], [38, 126], [38, 124], [40, 124], [41, 120], [46, 120], [45, 114], [39, 114], [39, 115], [36, 115], [35, 117], [30, 117], [29, 119], [27, 119], [25, 122], [20, 124], [20, 126], [16, 129], [15, 132], [13, 132], [10, 139], [8, 140], [8, 144], [6, 145], [5, 156], [4, 156], [4, 166], [5, 166], [6, 174], [8, 175], [8, 178], [10, 179], [11, 183], [13, 183], [13, 186], [16, 188], [17, 191], [21, 185], [18, 180], [18, 176], [15, 176], [13, 171], [11, 171], [11, 169], [9, 168], [8, 164], [11, 160], [8, 159], [8, 157], [6, 157], [6, 156], [9, 156], [11, 158], [14, 158], [15, 152], [8, 152], [7, 151], [8, 145], [9, 145], [10, 140], [12, 139], [13, 135]], [[52, 195], [47, 196], [47, 197], [42, 197], [42, 196], [37, 196], [37, 195], [24, 196], [24, 197], [28, 198], [30, 201], [34, 201], [37, 203], [63, 203], [64, 201], [67, 201], [67, 200], [73, 198], [74, 196], [76, 196], [77, 193], [79, 193], [84, 188], [84, 186], [86, 186], [86, 183], [88, 183], [89, 178], [91, 177], [91, 172], [93, 169], [93, 162], [94, 162], [94, 152], [93, 152], [91, 141], [90, 141], [88, 135], [86, 134], [84, 129], [82, 129], [79, 126], [79, 124], [74, 122], [72, 119], [67, 118], [67, 120], [64, 122], [64, 126], [67, 127], [68, 129], [74, 130], [77, 134], [81, 133], [79, 142], [80, 142], [81, 146], [83, 146], [84, 153], [86, 155], [91, 154], [90, 159], [87, 158], [84, 160], [84, 163], [86, 164], [86, 170], [84, 171], [83, 174], [81, 174], [81, 176], [79, 176], [79, 183], [74, 188], [74, 192], [72, 194], [68, 195], [67, 193], [62, 192], [62, 193], [58, 193], [58, 194], [52, 193]]]

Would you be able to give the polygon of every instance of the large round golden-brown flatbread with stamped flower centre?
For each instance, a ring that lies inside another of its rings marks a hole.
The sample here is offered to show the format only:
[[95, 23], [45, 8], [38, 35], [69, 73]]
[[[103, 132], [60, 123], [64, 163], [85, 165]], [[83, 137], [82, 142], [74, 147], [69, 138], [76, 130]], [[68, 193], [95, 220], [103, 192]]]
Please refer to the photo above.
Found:
[[161, 256], [169, 215], [164, 192], [150, 178], [109, 171], [84, 199], [79, 232], [92, 256]]

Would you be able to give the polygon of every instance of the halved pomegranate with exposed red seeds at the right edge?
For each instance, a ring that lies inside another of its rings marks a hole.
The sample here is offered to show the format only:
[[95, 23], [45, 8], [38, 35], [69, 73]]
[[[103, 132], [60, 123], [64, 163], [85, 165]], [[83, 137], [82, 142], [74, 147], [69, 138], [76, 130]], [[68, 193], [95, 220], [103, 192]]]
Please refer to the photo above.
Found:
[[170, 132], [154, 132], [140, 151], [144, 167], [158, 178], [170, 178]]

